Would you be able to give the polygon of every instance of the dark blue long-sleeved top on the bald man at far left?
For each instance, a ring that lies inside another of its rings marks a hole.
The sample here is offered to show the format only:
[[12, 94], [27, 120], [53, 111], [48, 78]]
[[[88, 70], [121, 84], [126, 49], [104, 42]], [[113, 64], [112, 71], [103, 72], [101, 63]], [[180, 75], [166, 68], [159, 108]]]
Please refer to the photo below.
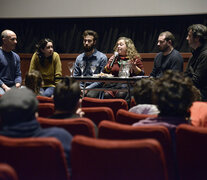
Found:
[[0, 48], [0, 86], [11, 87], [21, 82], [20, 57], [13, 51], [5, 52]]

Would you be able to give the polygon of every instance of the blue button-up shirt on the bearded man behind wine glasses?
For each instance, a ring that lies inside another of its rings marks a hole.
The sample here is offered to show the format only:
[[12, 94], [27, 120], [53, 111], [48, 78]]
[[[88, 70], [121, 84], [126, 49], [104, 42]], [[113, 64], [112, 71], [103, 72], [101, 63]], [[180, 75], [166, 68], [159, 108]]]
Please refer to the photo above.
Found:
[[[94, 53], [91, 56], [86, 56], [85, 53], [80, 54], [75, 61], [75, 67], [73, 76], [81, 76], [81, 70], [80, 70], [80, 63], [84, 61], [86, 64], [85, 69], [83, 70], [83, 76], [92, 76], [93, 72], [91, 71], [91, 65], [96, 65], [96, 70], [94, 74], [99, 74], [104, 69], [105, 65], [107, 64], [108, 58], [105, 54], [101, 53], [100, 51], [97, 51], [97, 49], [94, 50]], [[101, 82], [87, 82], [86, 83], [86, 89], [100, 87]], [[84, 83], [80, 83], [81, 88], [83, 88]]]

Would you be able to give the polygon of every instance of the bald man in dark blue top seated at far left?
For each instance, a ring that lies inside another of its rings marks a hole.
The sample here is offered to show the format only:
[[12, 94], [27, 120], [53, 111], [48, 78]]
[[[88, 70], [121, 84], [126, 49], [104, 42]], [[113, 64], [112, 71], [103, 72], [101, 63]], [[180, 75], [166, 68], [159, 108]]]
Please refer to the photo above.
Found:
[[1, 33], [0, 48], [0, 94], [10, 90], [12, 86], [19, 88], [22, 83], [20, 57], [13, 51], [17, 44], [17, 36], [11, 30]]

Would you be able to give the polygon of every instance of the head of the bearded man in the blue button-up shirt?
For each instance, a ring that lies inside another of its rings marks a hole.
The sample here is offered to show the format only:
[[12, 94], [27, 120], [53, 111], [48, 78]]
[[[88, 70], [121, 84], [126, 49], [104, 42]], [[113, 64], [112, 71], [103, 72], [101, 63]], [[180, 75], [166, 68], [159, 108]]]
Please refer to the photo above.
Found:
[[85, 52], [91, 52], [94, 50], [98, 34], [93, 30], [85, 30], [83, 32], [83, 47]]

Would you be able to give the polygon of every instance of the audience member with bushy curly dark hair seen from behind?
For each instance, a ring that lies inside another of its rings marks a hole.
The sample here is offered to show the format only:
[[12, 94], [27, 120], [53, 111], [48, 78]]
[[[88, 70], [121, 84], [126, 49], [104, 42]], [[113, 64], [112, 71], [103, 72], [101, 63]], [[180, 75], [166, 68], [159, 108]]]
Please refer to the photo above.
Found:
[[141, 120], [134, 126], [164, 125], [174, 131], [177, 125], [188, 123], [189, 108], [195, 98], [192, 81], [179, 72], [167, 70], [153, 88], [153, 102], [160, 111], [158, 117]]

